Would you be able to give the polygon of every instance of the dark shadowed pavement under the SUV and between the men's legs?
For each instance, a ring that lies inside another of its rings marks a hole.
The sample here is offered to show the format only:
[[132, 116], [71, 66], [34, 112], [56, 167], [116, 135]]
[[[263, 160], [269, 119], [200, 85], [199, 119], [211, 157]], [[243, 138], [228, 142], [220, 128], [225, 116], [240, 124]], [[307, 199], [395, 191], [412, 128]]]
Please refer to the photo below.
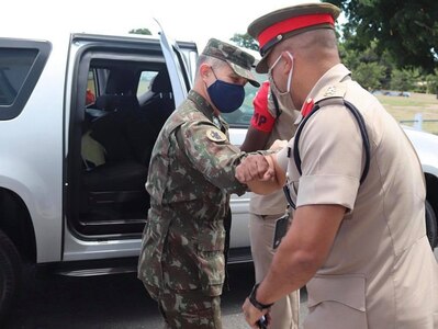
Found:
[[[438, 261], [438, 248], [435, 250]], [[242, 303], [254, 284], [251, 264], [231, 266], [231, 291], [223, 295], [224, 329], [246, 329]], [[306, 314], [302, 291], [301, 318]], [[161, 328], [156, 304], [134, 274], [99, 277], [40, 276], [2, 329]]]

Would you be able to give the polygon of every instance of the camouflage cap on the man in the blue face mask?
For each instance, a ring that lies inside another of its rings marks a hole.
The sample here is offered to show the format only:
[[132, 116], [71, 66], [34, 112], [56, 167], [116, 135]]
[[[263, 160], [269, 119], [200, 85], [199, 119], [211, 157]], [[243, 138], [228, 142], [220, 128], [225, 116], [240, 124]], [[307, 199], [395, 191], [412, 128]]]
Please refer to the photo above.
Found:
[[254, 56], [240, 48], [216, 38], [211, 38], [202, 52], [202, 55], [226, 61], [236, 75], [247, 79], [249, 83], [255, 87], [260, 86], [251, 73], [251, 67], [255, 61]]

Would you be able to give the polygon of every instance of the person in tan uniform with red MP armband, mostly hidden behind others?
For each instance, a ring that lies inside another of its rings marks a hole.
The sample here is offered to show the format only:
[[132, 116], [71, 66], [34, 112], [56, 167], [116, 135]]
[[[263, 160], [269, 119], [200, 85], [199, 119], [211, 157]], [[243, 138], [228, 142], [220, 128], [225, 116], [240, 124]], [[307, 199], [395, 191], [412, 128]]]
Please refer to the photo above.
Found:
[[[269, 81], [265, 81], [252, 101], [254, 114], [248, 133], [240, 146], [243, 151], [255, 151], [274, 147], [277, 140], [289, 140], [295, 133], [295, 121], [300, 112], [280, 107], [272, 95]], [[274, 251], [291, 220], [291, 212], [282, 191], [268, 195], [251, 193], [249, 201], [249, 238], [256, 272], [256, 282], [268, 273]], [[300, 315], [300, 291], [294, 291], [271, 308], [274, 319], [270, 329], [297, 329]]]

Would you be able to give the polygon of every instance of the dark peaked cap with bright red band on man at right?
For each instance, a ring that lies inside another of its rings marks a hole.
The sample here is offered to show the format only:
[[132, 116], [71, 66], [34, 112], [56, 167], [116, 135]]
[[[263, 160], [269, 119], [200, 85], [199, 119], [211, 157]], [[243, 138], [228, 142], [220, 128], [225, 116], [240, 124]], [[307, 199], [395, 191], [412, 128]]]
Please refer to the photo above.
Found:
[[340, 10], [332, 3], [303, 3], [272, 11], [255, 20], [248, 34], [259, 42], [261, 59], [259, 73], [268, 72], [266, 59], [272, 48], [283, 39], [316, 29], [335, 29]]

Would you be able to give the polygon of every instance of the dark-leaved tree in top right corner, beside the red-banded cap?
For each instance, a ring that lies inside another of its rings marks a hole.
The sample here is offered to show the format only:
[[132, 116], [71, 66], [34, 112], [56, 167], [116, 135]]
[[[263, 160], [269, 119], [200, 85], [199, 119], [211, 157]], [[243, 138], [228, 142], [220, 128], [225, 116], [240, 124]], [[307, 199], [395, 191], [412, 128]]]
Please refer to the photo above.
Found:
[[437, 0], [325, 0], [342, 9], [345, 38], [358, 50], [377, 42], [377, 54], [389, 52], [398, 68], [438, 65]]

